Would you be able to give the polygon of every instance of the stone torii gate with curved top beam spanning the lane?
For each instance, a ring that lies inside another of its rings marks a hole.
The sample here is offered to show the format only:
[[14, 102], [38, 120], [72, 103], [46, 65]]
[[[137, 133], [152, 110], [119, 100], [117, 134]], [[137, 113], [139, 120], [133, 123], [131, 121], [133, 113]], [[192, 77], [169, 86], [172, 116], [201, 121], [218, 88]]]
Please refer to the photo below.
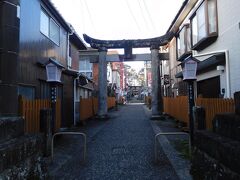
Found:
[[83, 34], [84, 40], [91, 45], [92, 48], [99, 51], [99, 96], [98, 96], [98, 116], [99, 118], [107, 117], [107, 50], [108, 49], [124, 49], [124, 55], [120, 56], [122, 61], [138, 61], [142, 57], [146, 58], [146, 54], [132, 54], [132, 48], [146, 48], [149, 47], [151, 54], [152, 69], [152, 118], [157, 118], [163, 111], [161, 98], [161, 78], [159, 71], [159, 60], [167, 60], [166, 56], [162, 57], [159, 54], [159, 47], [166, 45], [173, 37], [173, 33], [167, 33], [163, 36], [150, 39], [133, 39], [133, 40], [99, 40]]

